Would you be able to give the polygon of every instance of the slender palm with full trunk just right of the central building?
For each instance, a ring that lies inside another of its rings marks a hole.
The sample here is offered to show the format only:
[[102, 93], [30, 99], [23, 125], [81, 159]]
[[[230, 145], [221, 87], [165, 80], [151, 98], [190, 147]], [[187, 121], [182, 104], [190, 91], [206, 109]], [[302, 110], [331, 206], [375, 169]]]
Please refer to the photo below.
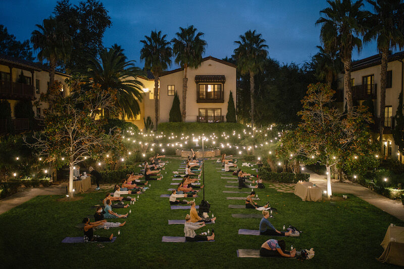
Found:
[[241, 41], [234, 41], [238, 47], [234, 49], [234, 56], [241, 75], [249, 74], [251, 124], [254, 125], [254, 75], [262, 71], [265, 59], [268, 55], [267, 45], [262, 34], [256, 34], [256, 30], [248, 30], [240, 35]]

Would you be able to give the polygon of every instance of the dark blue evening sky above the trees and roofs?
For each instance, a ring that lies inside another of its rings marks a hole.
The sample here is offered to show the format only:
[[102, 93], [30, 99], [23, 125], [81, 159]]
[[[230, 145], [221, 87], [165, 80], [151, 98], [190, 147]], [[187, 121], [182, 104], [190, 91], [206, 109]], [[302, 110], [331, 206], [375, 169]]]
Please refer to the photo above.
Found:
[[[35, 24], [52, 14], [56, 1], [0, 0], [0, 24], [19, 40], [30, 37]], [[71, 0], [77, 4], [79, 1]], [[231, 56], [238, 36], [249, 29], [262, 33], [269, 46], [269, 55], [280, 63], [308, 61], [317, 52], [320, 26], [315, 22], [325, 0], [263, 1], [136, 1], [104, 0], [112, 27], [104, 36], [105, 46], [122, 45], [130, 60], [138, 66], [140, 40], [151, 30], [161, 30], [171, 40], [178, 27], [194, 25], [205, 33], [208, 42], [205, 56]], [[364, 45], [358, 55], [365, 58], [377, 53], [374, 43]], [[175, 66], [172, 66], [175, 68]]]

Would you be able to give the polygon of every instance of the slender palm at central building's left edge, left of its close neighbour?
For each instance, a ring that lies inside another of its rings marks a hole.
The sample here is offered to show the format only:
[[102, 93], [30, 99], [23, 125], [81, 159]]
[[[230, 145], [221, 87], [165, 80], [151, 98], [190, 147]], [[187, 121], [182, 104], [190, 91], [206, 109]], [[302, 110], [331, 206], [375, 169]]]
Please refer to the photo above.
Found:
[[161, 35], [161, 31], [151, 31], [150, 36], [144, 36], [143, 48], [140, 50], [140, 60], [144, 60], [144, 68], [149, 69], [155, 77], [155, 114], [156, 129], [159, 121], [159, 78], [163, 71], [171, 65], [172, 49], [167, 35]]

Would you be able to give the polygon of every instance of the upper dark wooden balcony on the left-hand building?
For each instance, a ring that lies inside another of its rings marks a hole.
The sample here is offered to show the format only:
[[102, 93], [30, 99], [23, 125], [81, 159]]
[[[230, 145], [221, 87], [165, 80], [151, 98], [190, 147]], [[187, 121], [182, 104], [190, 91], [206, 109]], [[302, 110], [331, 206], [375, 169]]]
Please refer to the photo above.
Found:
[[19, 82], [0, 80], [0, 98], [1, 99], [34, 99], [34, 86]]

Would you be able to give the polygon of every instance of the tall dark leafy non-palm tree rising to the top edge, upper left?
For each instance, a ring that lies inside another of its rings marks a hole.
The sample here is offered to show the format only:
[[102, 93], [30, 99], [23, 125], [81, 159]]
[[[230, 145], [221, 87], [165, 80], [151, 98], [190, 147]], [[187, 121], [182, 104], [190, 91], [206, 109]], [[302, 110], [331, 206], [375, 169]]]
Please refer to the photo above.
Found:
[[72, 5], [69, 0], [58, 1], [53, 14], [58, 21], [69, 26], [72, 37], [72, 55], [65, 68], [72, 72], [86, 69], [86, 59], [104, 49], [105, 30], [112, 25], [103, 3], [97, 0], [82, 0]]

